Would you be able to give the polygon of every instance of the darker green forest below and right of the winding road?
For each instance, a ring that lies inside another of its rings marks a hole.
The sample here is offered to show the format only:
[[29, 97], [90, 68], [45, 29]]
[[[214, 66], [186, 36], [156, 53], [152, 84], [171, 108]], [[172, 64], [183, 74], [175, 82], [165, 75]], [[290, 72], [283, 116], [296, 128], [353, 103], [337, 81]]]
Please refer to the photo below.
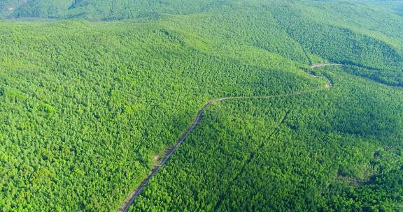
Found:
[[402, 89], [325, 73], [334, 89], [213, 105], [133, 211], [397, 211]]

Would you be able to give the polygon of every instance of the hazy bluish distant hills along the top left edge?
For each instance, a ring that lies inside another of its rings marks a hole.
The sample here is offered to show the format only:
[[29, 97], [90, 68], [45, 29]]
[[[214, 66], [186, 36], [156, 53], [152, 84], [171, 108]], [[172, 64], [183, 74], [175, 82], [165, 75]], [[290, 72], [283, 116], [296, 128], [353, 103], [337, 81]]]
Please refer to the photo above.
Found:
[[4, 0], [0, 1], [0, 11], [3, 18], [43, 17], [121, 20], [136, 17], [153, 17], [155, 13], [196, 13], [217, 8], [229, 2], [227, 0]]

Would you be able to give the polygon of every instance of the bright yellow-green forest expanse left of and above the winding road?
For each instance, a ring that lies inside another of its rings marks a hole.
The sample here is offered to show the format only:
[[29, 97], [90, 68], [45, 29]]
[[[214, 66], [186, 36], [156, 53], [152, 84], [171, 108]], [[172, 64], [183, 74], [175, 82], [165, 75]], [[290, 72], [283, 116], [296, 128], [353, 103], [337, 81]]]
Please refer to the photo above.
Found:
[[5, 22], [1, 31], [6, 211], [116, 209], [206, 100], [325, 83], [291, 65], [279, 74], [282, 65], [205, 54], [157, 24]]

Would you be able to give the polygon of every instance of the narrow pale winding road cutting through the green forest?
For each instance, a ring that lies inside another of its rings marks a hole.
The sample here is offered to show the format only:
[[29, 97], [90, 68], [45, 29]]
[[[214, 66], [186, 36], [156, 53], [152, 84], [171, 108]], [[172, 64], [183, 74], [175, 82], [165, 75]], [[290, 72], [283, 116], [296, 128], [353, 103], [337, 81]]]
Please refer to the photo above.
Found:
[[[313, 68], [320, 68], [320, 67], [324, 67], [324, 66], [343, 66], [343, 65], [334, 64], [334, 63], [319, 63], [319, 64], [313, 64], [313, 66], [311, 66], [311, 68], [312, 69]], [[316, 77], [316, 76], [314, 76], [314, 77]], [[330, 81], [330, 79], [328, 79], [327, 77], [326, 77], [326, 80], [327, 80], [327, 84], [323, 89], [314, 89], [314, 90], [308, 90], [308, 91], [298, 91], [298, 92], [295, 92], [295, 93], [279, 94], [279, 95], [273, 95], [273, 96], [226, 96], [226, 97], [222, 97], [222, 98], [213, 98], [213, 99], [209, 100], [206, 103], [206, 105], [204, 105], [203, 107], [201, 107], [201, 109], [199, 109], [199, 112], [197, 112], [197, 116], [196, 116], [195, 120], [192, 123], [190, 123], [190, 126], [189, 126], [188, 130], [186, 130], [183, 133], [183, 135], [178, 139], [178, 142], [176, 142], [176, 144], [174, 146], [172, 146], [171, 149], [169, 149], [169, 151], [167, 152], [167, 154], [164, 157], [164, 160], [159, 162], [154, 167], [153, 171], [147, 176], [146, 179], [143, 180], [143, 182], [139, 185], [139, 187], [137, 187], [136, 190], [134, 190], [134, 192], [132, 192], [132, 194], [130, 195], [129, 200], [126, 201], [125, 204], [122, 204], [122, 206], [120, 206], [118, 211], [119, 212], [128, 212], [129, 211], [129, 208], [133, 204], [134, 199], [136, 199], [136, 197], [139, 196], [139, 194], [141, 193], [143, 188], [146, 187], [148, 181], [150, 181], [150, 179], [155, 174], [157, 174], [158, 169], [160, 169], [160, 167], [162, 167], [169, 160], [169, 158], [171, 158], [172, 154], [176, 151], [176, 149], [178, 149], [178, 146], [180, 146], [183, 143], [183, 141], [185, 141], [185, 138], [190, 134], [190, 132], [192, 132], [192, 130], [200, 122], [201, 114], [203, 114], [203, 112], [211, 104], [222, 102], [222, 101], [225, 101], [225, 100], [231, 100], [231, 99], [268, 99], [268, 98], [278, 98], [278, 97], [287, 97], [287, 96], [300, 96], [300, 95], [302, 95], [304, 93], [313, 93], [313, 92], [316, 92], [316, 91], [323, 91], [323, 90], [326, 90], [326, 89], [330, 89], [333, 86], [332, 81]]]

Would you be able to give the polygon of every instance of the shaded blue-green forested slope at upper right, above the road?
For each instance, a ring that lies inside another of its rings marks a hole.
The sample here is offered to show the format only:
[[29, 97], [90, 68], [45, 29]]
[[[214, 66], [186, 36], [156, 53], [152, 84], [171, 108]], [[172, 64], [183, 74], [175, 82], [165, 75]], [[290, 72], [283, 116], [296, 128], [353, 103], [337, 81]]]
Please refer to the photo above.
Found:
[[351, 29], [306, 19], [299, 10], [289, 7], [275, 6], [273, 13], [281, 27], [311, 54], [334, 63], [403, 71], [402, 56], [390, 45]]

